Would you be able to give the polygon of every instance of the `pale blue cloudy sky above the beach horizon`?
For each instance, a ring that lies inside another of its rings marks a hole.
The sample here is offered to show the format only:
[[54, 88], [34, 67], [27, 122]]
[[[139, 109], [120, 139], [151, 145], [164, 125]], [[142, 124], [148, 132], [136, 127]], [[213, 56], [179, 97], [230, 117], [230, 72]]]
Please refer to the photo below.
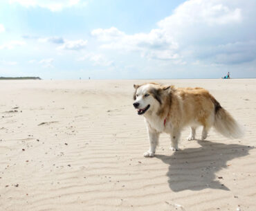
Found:
[[255, 0], [1, 0], [0, 77], [256, 77]]

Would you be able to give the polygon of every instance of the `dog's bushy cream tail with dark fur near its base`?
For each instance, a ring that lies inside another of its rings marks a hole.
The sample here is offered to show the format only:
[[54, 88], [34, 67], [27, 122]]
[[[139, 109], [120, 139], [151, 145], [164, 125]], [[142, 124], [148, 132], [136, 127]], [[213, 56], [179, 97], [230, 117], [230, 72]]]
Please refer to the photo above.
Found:
[[215, 99], [214, 107], [215, 121], [213, 126], [220, 134], [228, 138], [241, 138], [244, 136], [244, 129], [241, 125]]

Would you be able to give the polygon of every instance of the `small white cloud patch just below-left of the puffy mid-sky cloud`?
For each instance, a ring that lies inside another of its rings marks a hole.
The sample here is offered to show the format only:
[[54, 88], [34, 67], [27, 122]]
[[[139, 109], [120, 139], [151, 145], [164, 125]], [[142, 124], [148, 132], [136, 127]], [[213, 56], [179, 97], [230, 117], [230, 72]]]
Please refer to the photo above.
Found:
[[107, 59], [102, 54], [88, 53], [83, 57], [78, 58], [78, 61], [89, 60], [93, 62], [94, 66], [113, 66], [113, 61]]

